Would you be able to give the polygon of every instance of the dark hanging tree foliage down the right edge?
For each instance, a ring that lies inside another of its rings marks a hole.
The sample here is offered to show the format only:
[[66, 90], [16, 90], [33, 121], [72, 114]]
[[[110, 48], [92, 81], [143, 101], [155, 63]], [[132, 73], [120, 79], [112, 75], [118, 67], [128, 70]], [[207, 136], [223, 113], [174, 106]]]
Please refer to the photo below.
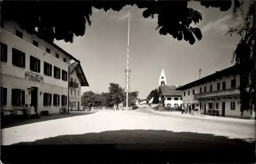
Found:
[[[238, 5], [239, 6], [239, 5]], [[238, 7], [237, 7], [238, 8]], [[243, 8], [240, 10], [243, 12]], [[234, 10], [237, 13], [238, 10]], [[243, 17], [243, 24], [239, 24], [234, 28], [229, 28], [227, 34], [238, 34], [241, 40], [233, 52], [233, 61], [236, 61], [240, 74], [240, 99], [241, 110], [248, 110], [252, 114], [252, 105], [256, 110], [255, 96], [255, 1], [251, 1], [249, 10]]]

